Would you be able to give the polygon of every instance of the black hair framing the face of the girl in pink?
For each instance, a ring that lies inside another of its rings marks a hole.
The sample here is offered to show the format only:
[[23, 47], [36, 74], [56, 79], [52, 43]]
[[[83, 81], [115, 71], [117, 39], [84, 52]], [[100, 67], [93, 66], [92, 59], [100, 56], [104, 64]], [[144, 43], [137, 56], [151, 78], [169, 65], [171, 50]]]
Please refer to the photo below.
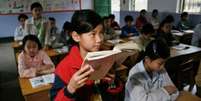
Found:
[[26, 36], [23, 38], [23, 40], [22, 40], [23, 50], [25, 49], [25, 44], [26, 44], [26, 42], [27, 42], [28, 40], [36, 42], [37, 45], [38, 45], [38, 49], [39, 49], [39, 50], [42, 49], [42, 45], [41, 45], [41, 43], [40, 43], [38, 37], [37, 37], [36, 35], [31, 35], [31, 34], [30, 34], [30, 35], [26, 35]]

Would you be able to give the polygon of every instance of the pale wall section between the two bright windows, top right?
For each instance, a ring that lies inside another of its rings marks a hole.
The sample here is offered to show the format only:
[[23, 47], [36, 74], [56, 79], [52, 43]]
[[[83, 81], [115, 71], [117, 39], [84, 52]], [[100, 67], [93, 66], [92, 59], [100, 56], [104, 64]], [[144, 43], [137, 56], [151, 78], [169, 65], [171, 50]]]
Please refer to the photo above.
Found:
[[160, 12], [176, 12], [178, 0], [148, 0], [148, 11], [158, 9]]

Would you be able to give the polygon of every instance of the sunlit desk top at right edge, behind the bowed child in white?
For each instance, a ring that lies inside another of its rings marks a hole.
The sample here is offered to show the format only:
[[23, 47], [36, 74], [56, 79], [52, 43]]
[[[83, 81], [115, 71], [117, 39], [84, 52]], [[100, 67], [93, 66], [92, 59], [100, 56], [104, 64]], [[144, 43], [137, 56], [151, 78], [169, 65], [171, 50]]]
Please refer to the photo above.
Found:
[[177, 49], [171, 48], [171, 50], [170, 50], [171, 57], [201, 52], [201, 48], [199, 48], [199, 47], [186, 45], [186, 44], [181, 44], [181, 45], [184, 45], [184, 46], [189, 47], [189, 48], [183, 49], [183, 50], [177, 50]]

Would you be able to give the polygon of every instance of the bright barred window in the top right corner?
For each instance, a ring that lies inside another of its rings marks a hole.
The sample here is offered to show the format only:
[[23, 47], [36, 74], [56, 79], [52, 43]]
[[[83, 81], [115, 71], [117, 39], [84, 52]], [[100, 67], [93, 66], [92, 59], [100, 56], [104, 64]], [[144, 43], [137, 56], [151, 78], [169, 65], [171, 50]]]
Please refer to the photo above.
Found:
[[180, 12], [201, 13], [201, 0], [180, 0]]

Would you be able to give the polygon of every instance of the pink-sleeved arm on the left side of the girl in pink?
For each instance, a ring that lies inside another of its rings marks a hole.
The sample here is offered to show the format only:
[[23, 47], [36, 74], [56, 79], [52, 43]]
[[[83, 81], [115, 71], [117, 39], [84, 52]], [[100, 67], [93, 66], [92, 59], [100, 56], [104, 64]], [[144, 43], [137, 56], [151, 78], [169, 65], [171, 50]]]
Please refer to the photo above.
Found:
[[26, 67], [25, 59], [22, 54], [18, 56], [18, 73], [21, 78], [30, 78], [36, 76], [36, 69]]

